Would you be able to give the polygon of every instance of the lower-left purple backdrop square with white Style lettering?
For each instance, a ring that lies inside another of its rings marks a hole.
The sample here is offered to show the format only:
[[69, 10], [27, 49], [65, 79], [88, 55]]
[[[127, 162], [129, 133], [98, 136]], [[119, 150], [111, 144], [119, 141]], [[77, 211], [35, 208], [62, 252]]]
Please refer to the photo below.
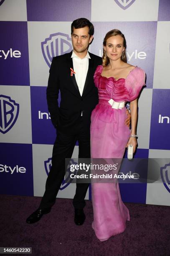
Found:
[[33, 196], [31, 144], [0, 143], [0, 193]]

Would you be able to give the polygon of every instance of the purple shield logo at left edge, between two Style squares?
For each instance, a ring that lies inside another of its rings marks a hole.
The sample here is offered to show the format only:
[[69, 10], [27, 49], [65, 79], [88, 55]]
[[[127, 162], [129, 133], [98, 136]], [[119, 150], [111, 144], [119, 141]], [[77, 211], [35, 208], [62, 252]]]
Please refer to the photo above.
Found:
[[19, 104], [6, 95], [0, 95], [0, 132], [7, 133], [15, 124]]

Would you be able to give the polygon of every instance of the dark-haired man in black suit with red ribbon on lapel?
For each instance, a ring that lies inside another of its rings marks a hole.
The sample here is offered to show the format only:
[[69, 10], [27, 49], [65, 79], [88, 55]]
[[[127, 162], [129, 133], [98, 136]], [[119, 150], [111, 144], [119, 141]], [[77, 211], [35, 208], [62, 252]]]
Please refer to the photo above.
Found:
[[[47, 87], [48, 110], [57, 129], [53, 146], [52, 166], [46, 181], [46, 191], [41, 204], [26, 220], [35, 223], [43, 214], [50, 212], [65, 176], [65, 159], [70, 159], [76, 141], [79, 142], [79, 158], [90, 158], [90, 118], [98, 103], [98, 92], [93, 75], [102, 63], [99, 56], [88, 52], [93, 40], [94, 26], [86, 18], [71, 24], [73, 51], [54, 57], [51, 63]], [[58, 92], [61, 92], [60, 108]], [[127, 119], [127, 122], [129, 118]], [[85, 220], [83, 208], [89, 184], [77, 183], [73, 205], [74, 222], [82, 225]]]

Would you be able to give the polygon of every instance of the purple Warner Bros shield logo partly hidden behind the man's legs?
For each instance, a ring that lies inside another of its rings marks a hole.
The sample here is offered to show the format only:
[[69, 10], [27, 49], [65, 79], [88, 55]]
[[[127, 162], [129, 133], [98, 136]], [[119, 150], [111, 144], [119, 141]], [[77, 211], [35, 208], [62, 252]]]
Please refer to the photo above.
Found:
[[[52, 158], [48, 158], [47, 161], [44, 161], [44, 166], [45, 166], [45, 170], [46, 170], [46, 174], [48, 175], [49, 172], [50, 172], [50, 169], [51, 169], [51, 159]], [[70, 159], [70, 162], [69, 162], [69, 165], [68, 165], [68, 168], [67, 168], [67, 172], [66, 172], [66, 175], [64, 176], [64, 179], [61, 183], [61, 186], [60, 186], [60, 190], [63, 190], [65, 189], [66, 187], [69, 186], [69, 184], [71, 183], [71, 181], [73, 179], [70, 178], [70, 174], [71, 174], [71, 171], [70, 171], [70, 165], [71, 164], [77, 164], [73, 159]], [[69, 181], [69, 182], [68, 182]]]

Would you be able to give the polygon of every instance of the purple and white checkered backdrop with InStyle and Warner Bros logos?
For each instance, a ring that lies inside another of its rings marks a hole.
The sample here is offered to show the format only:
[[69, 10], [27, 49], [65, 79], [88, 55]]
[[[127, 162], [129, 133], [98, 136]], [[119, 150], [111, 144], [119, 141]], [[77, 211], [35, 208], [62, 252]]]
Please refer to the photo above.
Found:
[[[120, 184], [122, 199], [170, 205], [169, 0], [0, 0], [0, 193], [43, 195], [56, 138], [46, 102], [49, 67], [53, 56], [72, 50], [71, 22], [80, 17], [94, 24], [90, 52], [101, 56], [105, 34], [118, 28], [128, 62], [147, 74], [135, 158], [162, 158], [162, 182]], [[58, 197], [74, 193], [75, 184], [63, 180]]]

